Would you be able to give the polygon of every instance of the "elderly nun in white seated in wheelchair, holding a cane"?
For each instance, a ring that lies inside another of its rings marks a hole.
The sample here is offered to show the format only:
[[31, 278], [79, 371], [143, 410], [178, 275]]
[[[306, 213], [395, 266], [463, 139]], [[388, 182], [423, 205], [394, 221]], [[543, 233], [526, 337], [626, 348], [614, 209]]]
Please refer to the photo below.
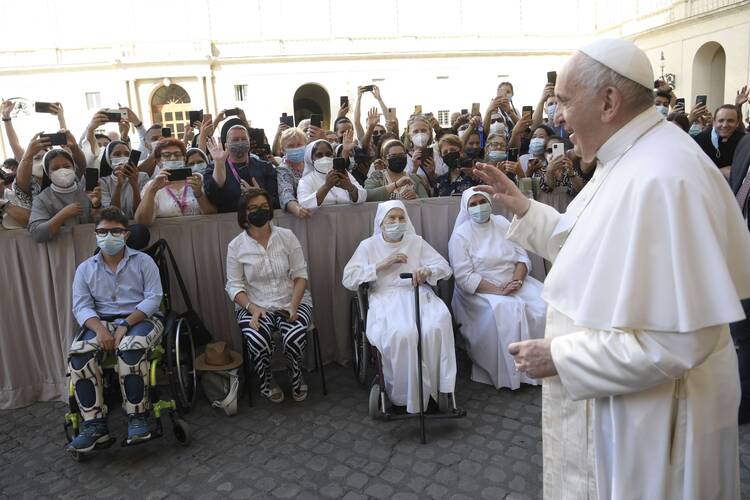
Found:
[[373, 235], [359, 244], [344, 268], [343, 284], [357, 290], [370, 283], [367, 339], [382, 354], [385, 390], [391, 402], [419, 412], [417, 327], [412, 282], [420, 283], [424, 406], [439, 393], [453, 393], [456, 353], [450, 312], [427, 284], [451, 275], [448, 262], [414, 231], [401, 201], [380, 203]]

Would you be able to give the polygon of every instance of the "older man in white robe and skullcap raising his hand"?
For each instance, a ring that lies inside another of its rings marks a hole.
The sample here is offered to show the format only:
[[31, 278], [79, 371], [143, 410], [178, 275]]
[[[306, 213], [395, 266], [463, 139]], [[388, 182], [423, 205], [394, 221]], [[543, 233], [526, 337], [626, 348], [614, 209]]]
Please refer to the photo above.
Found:
[[554, 262], [545, 338], [511, 344], [543, 378], [547, 499], [738, 499], [737, 356], [750, 235], [719, 170], [653, 107], [633, 43], [599, 40], [560, 72], [555, 125], [591, 181], [560, 214], [478, 164], [515, 217], [508, 239]]

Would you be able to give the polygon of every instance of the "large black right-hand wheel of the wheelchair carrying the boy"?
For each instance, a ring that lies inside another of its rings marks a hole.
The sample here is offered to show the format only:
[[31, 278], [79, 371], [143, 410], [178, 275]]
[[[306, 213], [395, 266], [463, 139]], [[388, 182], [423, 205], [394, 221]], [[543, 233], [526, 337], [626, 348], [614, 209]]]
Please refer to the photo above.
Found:
[[167, 336], [167, 365], [172, 394], [182, 413], [190, 411], [195, 403], [197, 379], [194, 359], [195, 345], [190, 325], [185, 318], [179, 318], [174, 332]]

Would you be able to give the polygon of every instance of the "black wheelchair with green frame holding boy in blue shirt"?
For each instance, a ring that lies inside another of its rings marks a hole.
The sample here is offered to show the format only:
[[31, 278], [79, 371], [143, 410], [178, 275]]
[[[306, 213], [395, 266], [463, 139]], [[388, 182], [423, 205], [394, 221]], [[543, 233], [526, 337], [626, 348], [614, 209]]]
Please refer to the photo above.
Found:
[[[183, 446], [188, 446], [191, 440], [190, 426], [182, 418], [182, 415], [190, 411], [197, 394], [197, 375], [193, 367], [195, 348], [196, 345], [203, 345], [208, 342], [210, 334], [193, 311], [182, 276], [167, 242], [163, 239], [159, 240], [144, 249], [143, 252], [151, 256], [156, 262], [164, 293], [161, 311], [157, 313], [164, 325], [161, 342], [148, 353], [148, 394], [151, 403], [149, 413], [153, 413], [156, 427], [152, 429], [151, 436], [148, 439], [128, 443], [127, 437], [125, 437], [122, 439], [121, 445], [134, 446], [162, 437], [164, 435], [163, 418], [166, 414], [171, 421], [175, 440]], [[181, 314], [177, 314], [172, 308], [170, 265], [182, 292], [183, 301], [187, 306], [187, 311]], [[82, 330], [83, 327], [79, 329], [78, 333]], [[121, 402], [116, 355], [107, 353], [101, 362], [101, 368], [104, 401], [108, 407], [114, 407]], [[157, 384], [159, 375], [166, 377], [166, 385], [171, 397], [161, 397], [161, 388]], [[70, 377], [70, 374], [68, 373], [67, 376]], [[68, 407], [68, 413], [65, 414], [64, 431], [65, 437], [70, 443], [78, 435], [83, 422], [75, 398], [72, 380], [68, 384]], [[117, 438], [110, 436], [109, 440], [97, 444], [92, 451], [109, 448], [115, 441], [117, 441]], [[75, 461], [83, 461], [91, 454], [91, 452], [81, 453], [75, 450], [71, 450], [69, 453]]]

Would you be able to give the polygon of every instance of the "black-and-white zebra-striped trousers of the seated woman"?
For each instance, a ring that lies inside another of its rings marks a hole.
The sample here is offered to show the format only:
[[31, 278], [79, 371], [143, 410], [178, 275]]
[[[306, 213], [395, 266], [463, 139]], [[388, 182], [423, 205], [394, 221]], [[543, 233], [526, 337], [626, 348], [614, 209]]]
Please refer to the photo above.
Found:
[[260, 392], [265, 397], [271, 396], [271, 357], [274, 348], [271, 333], [274, 330], [281, 332], [292, 390], [298, 394], [302, 387], [302, 357], [305, 354], [307, 327], [312, 318], [312, 307], [300, 304], [297, 308], [297, 316], [297, 321], [289, 323], [284, 316], [268, 311], [260, 319], [256, 330], [250, 326], [252, 314], [245, 309], [237, 310], [237, 323], [250, 351], [255, 372], [260, 379]]

